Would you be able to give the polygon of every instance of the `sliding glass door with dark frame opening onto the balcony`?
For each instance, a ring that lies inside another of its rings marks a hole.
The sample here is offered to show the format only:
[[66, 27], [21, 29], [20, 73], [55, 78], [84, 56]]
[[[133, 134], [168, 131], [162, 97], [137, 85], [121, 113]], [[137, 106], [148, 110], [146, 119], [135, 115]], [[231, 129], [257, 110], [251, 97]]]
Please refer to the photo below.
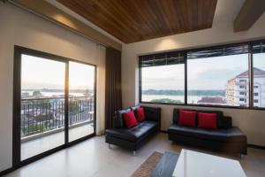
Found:
[[15, 47], [13, 166], [95, 135], [95, 65]]

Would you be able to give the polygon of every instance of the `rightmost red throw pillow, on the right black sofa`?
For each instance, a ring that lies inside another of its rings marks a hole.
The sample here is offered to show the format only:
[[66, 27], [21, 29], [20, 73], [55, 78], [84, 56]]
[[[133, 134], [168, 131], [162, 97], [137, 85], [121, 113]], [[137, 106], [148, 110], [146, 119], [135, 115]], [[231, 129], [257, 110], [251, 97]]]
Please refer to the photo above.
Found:
[[198, 112], [198, 127], [217, 129], [216, 113]]

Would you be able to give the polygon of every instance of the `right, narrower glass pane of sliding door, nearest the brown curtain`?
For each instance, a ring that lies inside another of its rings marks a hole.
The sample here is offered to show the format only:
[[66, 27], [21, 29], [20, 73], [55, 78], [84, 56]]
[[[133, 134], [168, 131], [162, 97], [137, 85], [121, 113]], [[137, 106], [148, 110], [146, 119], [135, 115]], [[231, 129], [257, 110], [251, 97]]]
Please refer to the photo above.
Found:
[[94, 133], [95, 66], [69, 63], [69, 142]]

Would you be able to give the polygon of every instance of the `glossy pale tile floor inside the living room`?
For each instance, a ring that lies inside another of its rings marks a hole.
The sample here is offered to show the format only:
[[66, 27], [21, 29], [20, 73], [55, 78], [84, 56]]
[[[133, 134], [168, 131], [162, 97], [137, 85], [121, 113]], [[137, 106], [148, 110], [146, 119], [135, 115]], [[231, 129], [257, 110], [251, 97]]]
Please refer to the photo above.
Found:
[[[184, 147], [168, 141], [166, 134], [159, 134], [133, 157], [132, 151], [116, 146], [108, 149], [104, 136], [97, 136], [26, 165], [6, 177], [126, 177], [130, 176], [155, 150], [180, 152], [182, 148]], [[239, 160], [236, 156], [225, 157]], [[240, 163], [247, 176], [265, 176], [265, 150], [248, 149], [248, 155]]]

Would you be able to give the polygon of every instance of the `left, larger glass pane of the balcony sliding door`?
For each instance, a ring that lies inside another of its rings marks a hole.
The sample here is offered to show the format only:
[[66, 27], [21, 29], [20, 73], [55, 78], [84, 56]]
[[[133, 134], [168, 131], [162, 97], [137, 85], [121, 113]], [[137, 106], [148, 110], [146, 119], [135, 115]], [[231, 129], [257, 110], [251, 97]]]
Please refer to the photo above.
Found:
[[22, 55], [21, 160], [64, 144], [65, 64]]

